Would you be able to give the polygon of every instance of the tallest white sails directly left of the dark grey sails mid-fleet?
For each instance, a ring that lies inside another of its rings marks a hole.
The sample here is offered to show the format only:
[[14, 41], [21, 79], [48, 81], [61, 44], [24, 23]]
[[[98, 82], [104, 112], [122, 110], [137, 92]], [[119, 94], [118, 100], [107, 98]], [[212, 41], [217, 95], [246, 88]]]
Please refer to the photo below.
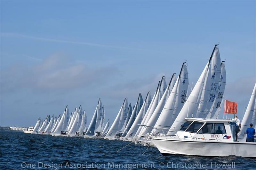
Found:
[[127, 115], [127, 111], [128, 111], [128, 102], [127, 102], [127, 98], [125, 98], [118, 114], [116, 115], [116, 118], [113, 124], [111, 125], [110, 129], [108, 130], [108, 133], [105, 136], [105, 139], [108, 137], [114, 138], [116, 136], [116, 133], [122, 132], [121, 129], [124, 125], [124, 115], [125, 113]]

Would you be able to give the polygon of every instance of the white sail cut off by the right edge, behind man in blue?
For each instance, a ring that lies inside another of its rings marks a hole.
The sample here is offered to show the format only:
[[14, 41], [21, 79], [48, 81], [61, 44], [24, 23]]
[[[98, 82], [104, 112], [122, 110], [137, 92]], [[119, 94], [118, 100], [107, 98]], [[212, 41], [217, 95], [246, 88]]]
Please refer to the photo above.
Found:
[[241, 132], [238, 135], [238, 140], [244, 142], [246, 140], [245, 131], [252, 123], [254, 129], [256, 128], [256, 83], [254, 85], [252, 96], [244, 113], [243, 120], [241, 122]]

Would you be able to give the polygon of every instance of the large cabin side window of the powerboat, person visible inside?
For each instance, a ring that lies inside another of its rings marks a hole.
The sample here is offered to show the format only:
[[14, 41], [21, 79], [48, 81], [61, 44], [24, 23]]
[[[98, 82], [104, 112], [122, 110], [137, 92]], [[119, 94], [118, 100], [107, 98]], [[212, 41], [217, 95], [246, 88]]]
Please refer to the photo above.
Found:
[[226, 130], [223, 123], [206, 123], [199, 133], [224, 134]]

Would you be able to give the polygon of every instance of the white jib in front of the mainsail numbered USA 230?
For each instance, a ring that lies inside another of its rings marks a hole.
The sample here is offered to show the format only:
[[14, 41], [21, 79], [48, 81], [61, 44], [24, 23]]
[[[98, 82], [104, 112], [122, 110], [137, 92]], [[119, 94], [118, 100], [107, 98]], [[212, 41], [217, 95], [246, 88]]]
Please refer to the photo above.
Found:
[[[210, 60], [207, 62], [206, 66], [204, 67], [204, 70], [203, 70], [202, 74], [200, 75], [199, 79], [197, 80], [195, 87], [193, 88], [192, 92], [188, 96], [188, 99], [185, 102], [184, 106], [181, 108], [179, 115], [173, 122], [173, 124], [170, 128], [170, 131], [168, 132], [168, 135], [174, 135], [176, 133], [176, 131], [178, 131], [180, 129], [180, 126], [184, 123], [183, 120], [185, 118], [193, 117], [193, 115], [196, 115], [199, 104], [201, 102], [203, 102], [203, 101], [200, 101], [200, 99], [202, 99], [201, 96], [202, 96], [203, 90], [205, 91], [204, 84], [205, 84], [206, 74], [209, 70], [209, 63], [211, 63], [211, 65], [215, 65], [215, 62], [213, 64], [211, 62], [213, 55], [215, 55], [214, 61], [216, 61], [216, 63], [219, 60], [219, 59], [216, 60], [216, 58], [219, 58], [219, 49], [216, 46], [217, 45], [215, 45], [212, 55], [210, 57]], [[218, 57], [216, 55], [218, 55]], [[218, 65], [220, 65], [220, 64], [217, 63], [217, 67], [218, 67]], [[211, 68], [212, 67], [210, 67], [210, 69]], [[213, 70], [214, 70], [214, 68], [213, 68]], [[217, 71], [217, 69], [216, 69], [216, 71]], [[213, 73], [212, 76], [213, 75], [214, 75], [214, 79], [215, 79], [216, 73], [215, 74]], [[220, 79], [220, 76], [218, 79]], [[207, 82], [207, 84], [209, 84], [209, 83]], [[211, 95], [212, 93], [208, 93], [208, 94]], [[206, 92], [204, 92], [204, 95], [206, 95]], [[200, 114], [201, 113], [203, 113], [203, 112], [200, 111]]]

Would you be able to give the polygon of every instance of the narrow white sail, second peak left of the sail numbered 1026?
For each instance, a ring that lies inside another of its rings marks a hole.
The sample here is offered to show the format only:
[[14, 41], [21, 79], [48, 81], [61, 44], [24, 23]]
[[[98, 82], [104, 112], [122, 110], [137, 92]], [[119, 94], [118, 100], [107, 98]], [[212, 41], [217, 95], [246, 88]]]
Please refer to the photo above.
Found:
[[[173, 85], [172, 85], [173, 86]], [[153, 101], [153, 104], [152, 104], [152, 107], [150, 108], [150, 111], [148, 112], [148, 117], [146, 119], [146, 121], [144, 122], [144, 125], [147, 125], [148, 122], [149, 122], [149, 119], [151, 118], [151, 116], [153, 115], [154, 111], [156, 110], [156, 107], [157, 105], [159, 104], [159, 102], [161, 101], [163, 95], [164, 95], [164, 92], [166, 91], [166, 82], [165, 82], [165, 77], [163, 76], [162, 77], [162, 80], [161, 80], [161, 83], [160, 83], [160, 86], [159, 86], [159, 90], [158, 92], [156, 93], [156, 97], [155, 97], [155, 100]], [[165, 101], [165, 100], [164, 100]], [[164, 103], [163, 103], [163, 107], [164, 107]], [[160, 108], [161, 109], [161, 108]], [[159, 109], [159, 110], [160, 110]], [[162, 111], [162, 110], [161, 110]], [[160, 111], [160, 112], [161, 112]], [[152, 125], [154, 126], [154, 125]], [[140, 131], [140, 134], [139, 136], [144, 136], [148, 133], [148, 128], [146, 127], [142, 127], [141, 131]]]

